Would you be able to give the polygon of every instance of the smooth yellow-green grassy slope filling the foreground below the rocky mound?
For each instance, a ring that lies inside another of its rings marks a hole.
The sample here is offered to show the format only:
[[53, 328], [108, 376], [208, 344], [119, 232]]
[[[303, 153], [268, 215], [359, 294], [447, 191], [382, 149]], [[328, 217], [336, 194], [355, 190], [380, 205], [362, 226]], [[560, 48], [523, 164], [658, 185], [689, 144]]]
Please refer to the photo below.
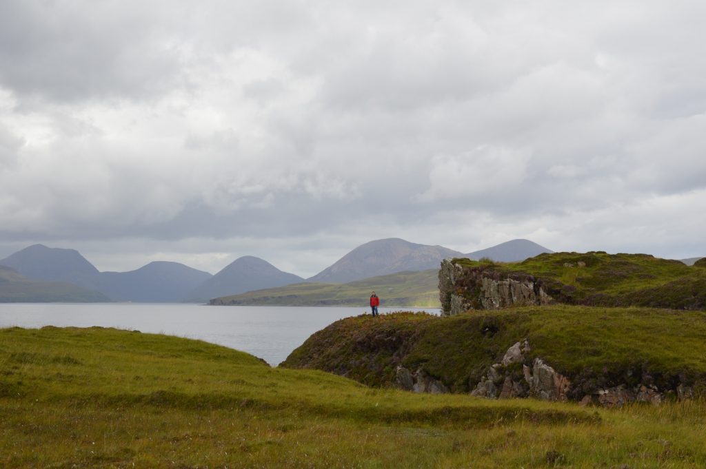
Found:
[[704, 415], [369, 389], [130, 331], [0, 330], [11, 468], [697, 468]]

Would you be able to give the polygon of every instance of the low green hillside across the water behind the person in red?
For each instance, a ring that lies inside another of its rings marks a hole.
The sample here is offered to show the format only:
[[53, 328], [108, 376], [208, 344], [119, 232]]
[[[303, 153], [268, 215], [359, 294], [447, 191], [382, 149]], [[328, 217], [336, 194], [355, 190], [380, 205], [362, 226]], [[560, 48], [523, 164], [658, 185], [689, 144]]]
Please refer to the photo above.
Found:
[[439, 307], [438, 269], [376, 276], [349, 284], [295, 284], [250, 291], [211, 301], [212, 305], [360, 306], [371, 291], [383, 306]]

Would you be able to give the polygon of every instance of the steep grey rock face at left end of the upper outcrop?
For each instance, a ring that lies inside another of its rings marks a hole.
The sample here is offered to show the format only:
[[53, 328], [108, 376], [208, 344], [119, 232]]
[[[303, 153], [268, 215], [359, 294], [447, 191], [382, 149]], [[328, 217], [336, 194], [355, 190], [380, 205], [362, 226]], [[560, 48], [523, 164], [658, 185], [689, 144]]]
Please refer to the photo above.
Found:
[[448, 259], [441, 262], [439, 269], [439, 299], [444, 315], [552, 302], [533, 276], [503, 276], [484, 267], [463, 267]]

